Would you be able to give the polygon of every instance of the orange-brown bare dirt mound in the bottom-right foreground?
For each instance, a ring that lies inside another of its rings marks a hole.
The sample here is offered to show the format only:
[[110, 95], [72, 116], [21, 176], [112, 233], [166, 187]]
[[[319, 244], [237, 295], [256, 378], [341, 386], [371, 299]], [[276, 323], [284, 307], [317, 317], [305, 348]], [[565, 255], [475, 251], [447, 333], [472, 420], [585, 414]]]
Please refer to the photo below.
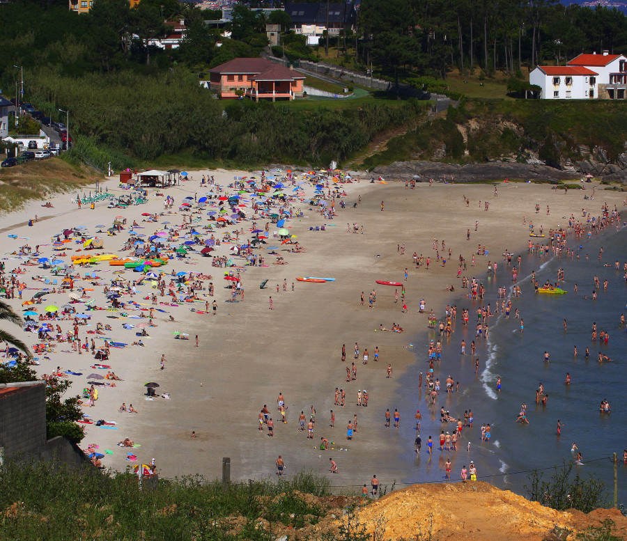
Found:
[[[360, 508], [355, 517], [359, 527], [380, 541], [571, 541], [607, 519], [615, 523], [614, 535], [627, 539], [627, 517], [618, 510], [598, 509], [589, 515], [556, 511], [488, 483], [413, 485]], [[337, 531], [347, 521], [346, 515], [326, 519], [314, 530]]]

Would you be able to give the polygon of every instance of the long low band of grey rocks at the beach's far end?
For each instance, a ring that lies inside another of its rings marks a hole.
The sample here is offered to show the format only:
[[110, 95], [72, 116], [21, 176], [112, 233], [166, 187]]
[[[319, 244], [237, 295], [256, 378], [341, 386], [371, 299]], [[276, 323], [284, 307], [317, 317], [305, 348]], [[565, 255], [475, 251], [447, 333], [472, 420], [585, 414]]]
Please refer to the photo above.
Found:
[[485, 180], [532, 180], [557, 184], [560, 180], [579, 180], [580, 174], [559, 171], [543, 164], [518, 164], [492, 162], [488, 164], [442, 164], [438, 162], [394, 162], [389, 166], [376, 167], [373, 175], [389, 180], [411, 180], [420, 177], [421, 182], [433, 178], [436, 182], [454, 177], [454, 182], [480, 182]]

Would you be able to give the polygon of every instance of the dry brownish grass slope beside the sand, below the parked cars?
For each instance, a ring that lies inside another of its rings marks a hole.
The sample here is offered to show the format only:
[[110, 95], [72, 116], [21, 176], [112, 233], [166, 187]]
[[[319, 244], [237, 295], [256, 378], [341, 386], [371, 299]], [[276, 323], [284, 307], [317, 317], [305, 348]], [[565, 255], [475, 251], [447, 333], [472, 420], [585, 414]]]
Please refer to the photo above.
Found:
[[59, 157], [0, 169], [0, 209], [11, 212], [33, 199], [74, 191], [95, 182], [98, 174]]

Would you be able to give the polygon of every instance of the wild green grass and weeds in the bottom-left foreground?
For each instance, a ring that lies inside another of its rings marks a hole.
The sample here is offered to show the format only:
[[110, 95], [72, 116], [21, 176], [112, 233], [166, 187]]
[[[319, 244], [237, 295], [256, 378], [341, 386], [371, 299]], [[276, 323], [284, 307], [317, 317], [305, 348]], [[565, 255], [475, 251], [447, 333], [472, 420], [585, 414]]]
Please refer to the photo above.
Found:
[[0, 481], [0, 538], [20, 541], [272, 540], [278, 528], [302, 528], [324, 516], [301, 493], [330, 494], [329, 481], [310, 473], [227, 489], [189, 476], [140, 490], [129, 473], [46, 462], [6, 462]]

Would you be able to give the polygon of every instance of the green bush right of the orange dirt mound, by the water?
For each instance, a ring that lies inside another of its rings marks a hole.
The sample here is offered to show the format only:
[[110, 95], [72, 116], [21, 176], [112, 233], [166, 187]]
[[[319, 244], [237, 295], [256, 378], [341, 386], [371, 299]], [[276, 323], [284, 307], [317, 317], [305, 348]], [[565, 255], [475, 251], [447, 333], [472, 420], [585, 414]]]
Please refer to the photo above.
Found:
[[554, 473], [545, 480], [543, 473], [534, 470], [529, 475], [529, 486], [525, 490], [531, 501], [547, 505], [558, 511], [577, 509], [589, 513], [605, 507], [607, 499], [603, 481], [590, 475], [583, 479], [579, 473], [573, 476], [573, 462], [554, 466]]

